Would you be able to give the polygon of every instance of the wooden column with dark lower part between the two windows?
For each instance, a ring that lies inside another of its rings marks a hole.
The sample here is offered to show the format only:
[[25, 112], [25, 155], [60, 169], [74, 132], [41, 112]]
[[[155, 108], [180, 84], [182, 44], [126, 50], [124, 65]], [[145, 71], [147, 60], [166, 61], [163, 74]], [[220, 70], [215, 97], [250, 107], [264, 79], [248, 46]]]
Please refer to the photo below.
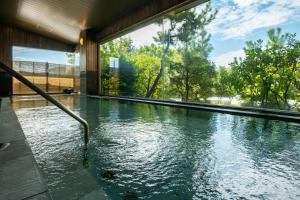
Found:
[[98, 44], [94, 34], [80, 34], [80, 92], [87, 95], [99, 94]]

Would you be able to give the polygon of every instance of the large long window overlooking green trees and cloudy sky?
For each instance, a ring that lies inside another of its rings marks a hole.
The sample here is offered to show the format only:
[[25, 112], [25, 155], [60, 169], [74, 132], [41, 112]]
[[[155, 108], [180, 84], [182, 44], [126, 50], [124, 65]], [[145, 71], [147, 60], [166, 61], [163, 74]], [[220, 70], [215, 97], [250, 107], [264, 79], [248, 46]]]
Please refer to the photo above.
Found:
[[100, 45], [101, 93], [300, 110], [299, 1], [214, 0]]

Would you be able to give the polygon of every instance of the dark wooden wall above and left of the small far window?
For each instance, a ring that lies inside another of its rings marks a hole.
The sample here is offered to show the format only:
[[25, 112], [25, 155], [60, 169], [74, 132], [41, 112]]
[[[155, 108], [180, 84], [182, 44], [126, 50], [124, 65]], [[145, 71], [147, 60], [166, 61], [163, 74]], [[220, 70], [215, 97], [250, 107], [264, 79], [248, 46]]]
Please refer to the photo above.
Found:
[[[66, 44], [35, 33], [0, 24], [0, 61], [12, 67], [12, 47], [23, 46], [74, 52], [73, 44]], [[12, 94], [12, 79], [0, 69], [0, 96]]]

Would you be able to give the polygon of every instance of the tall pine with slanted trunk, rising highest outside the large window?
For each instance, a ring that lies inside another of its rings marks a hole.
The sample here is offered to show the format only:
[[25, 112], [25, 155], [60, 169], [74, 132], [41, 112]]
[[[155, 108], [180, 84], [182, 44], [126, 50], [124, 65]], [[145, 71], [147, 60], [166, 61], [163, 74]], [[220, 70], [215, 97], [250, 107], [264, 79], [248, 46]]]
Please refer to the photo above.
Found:
[[[159, 80], [163, 76], [165, 65], [167, 60], [167, 55], [170, 52], [170, 45], [173, 45], [174, 42], [180, 42], [185, 48], [188, 47], [190, 41], [194, 41], [197, 36], [198, 42], [206, 42], [206, 44], [200, 44], [203, 48], [201, 49], [203, 53], [205, 51], [210, 51], [211, 46], [208, 44], [210, 35], [205, 31], [205, 27], [211, 23], [215, 18], [217, 12], [212, 11], [211, 3], [208, 2], [206, 7], [201, 11], [200, 14], [197, 14], [195, 9], [189, 9], [176, 15], [169, 15], [167, 20], [169, 21], [169, 28], [167, 31], [162, 30], [158, 33], [158, 37], [155, 38], [156, 42], [164, 45], [164, 50], [161, 55], [161, 65], [159, 73], [157, 74], [152, 86], [150, 87], [149, 92], [146, 97], [153, 96], [154, 91], [156, 90]], [[188, 51], [188, 50], [187, 50]], [[208, 54], [208, 53], [207, 53]], [[183, 59], [186, 60], [186, 59]], [[178, 65], [177, 65], [178, 66]], [[186, 66], [186, 65], [184, 65]], [[189, 70], [187, 70], [189, 71]], [[187, 72], [186, 71], [186, 72]], [[189, 76], [186, 76], [189, 77]], [[186, 83], [186, 98], [188, 99], [189, 94], [189, 84]]]

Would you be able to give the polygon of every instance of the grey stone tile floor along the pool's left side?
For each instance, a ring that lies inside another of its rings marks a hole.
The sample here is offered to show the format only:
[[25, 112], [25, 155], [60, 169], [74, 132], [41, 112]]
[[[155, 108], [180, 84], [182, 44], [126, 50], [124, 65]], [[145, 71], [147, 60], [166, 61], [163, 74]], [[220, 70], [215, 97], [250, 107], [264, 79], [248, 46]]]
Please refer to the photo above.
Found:
[[0, 101], [0, 200], [48, 200], [51, 196], [9, 98]]

